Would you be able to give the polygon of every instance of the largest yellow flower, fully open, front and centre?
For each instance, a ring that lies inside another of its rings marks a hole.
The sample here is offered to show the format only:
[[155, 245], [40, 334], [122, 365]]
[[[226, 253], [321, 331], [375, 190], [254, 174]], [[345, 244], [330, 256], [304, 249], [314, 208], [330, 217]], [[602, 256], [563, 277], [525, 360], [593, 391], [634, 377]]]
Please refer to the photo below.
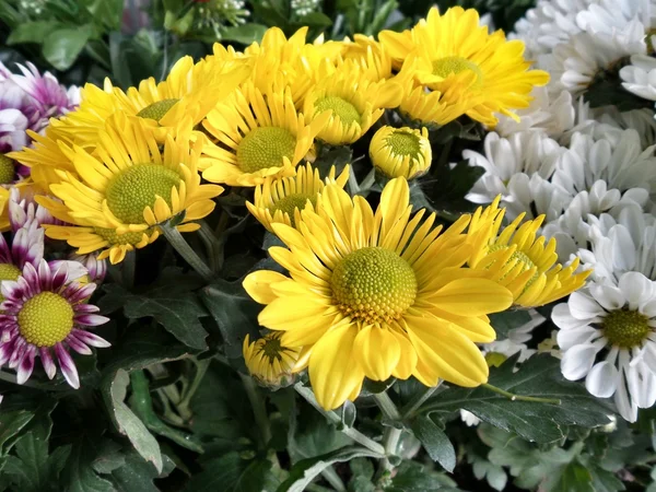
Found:
[[336, 185], [314, 209], [301, 212], [297, 230], [272, 224], [286, 248], [269, 254], [290, 277], [259, 270], [244, 288], [267, 305], [260, 325], [307, 354], [318, 402], [333, 409], [354, 400], [365, 376], [415, 376], [427, 386], [485, 382], [476, 342], [494, 339], [485, 315], [507, 308], [512, 294], [460, 268], [471, 255], [460, 239], [469, 218], [442, 235], [435, 214], [420, 225], [425, 211], [411, 218], [403, 178], [387, 184], [376, 212]]

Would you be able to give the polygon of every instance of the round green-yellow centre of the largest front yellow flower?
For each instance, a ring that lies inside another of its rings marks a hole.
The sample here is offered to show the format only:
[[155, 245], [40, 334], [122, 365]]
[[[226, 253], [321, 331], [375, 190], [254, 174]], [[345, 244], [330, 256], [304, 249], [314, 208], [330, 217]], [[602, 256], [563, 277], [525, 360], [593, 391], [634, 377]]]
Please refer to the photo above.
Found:
[[330, 283], [341, 312], [367, 324], [399, 319], [417, 296], [412, 267], [380, 247], [347, 255], [332, 271]]

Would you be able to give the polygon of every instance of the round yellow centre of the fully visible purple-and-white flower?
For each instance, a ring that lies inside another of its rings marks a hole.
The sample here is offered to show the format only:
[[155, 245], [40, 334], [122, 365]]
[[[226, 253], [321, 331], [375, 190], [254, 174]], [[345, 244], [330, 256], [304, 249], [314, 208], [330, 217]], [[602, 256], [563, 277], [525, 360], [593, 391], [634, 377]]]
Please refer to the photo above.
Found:
[[36, 347], [52, 347], [73, 329], [73, 308], [61, 295], [42, 292], [19, 313], [19, 331]]

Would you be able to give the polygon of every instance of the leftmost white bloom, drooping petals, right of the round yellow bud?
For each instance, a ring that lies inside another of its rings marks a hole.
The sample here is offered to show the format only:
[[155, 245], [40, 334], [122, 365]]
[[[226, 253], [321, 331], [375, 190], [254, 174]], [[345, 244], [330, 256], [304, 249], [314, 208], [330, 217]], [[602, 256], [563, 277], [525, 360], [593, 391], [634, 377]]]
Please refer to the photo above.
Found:
[[462, 152], [462, 157], [468, 159], [470, 165], [485, 169], [467, 199], [475, 203], [490, 203], [500, 194], [507, 196], [507, 185], [517, 173], [538, 174], [548, 179], [564, 151], [554, 140], [541, 133], [520, 132], [507, 139], [494, 132], [488, 133], [484, 155], [470, 150]]

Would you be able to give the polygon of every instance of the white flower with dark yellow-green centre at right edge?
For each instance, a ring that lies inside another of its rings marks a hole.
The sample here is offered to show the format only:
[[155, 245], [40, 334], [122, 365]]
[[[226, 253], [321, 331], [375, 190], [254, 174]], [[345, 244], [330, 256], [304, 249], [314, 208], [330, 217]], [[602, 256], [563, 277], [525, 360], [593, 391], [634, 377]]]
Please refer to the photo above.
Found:
[[552, 313], [563, 375], [585, 377], [598, 398], [614, 396], [629, 422], [635, 422], [639, 408], [656, 401], [655, 301], [656, 282], [625, 272], [617, 284], [591, 282]]

